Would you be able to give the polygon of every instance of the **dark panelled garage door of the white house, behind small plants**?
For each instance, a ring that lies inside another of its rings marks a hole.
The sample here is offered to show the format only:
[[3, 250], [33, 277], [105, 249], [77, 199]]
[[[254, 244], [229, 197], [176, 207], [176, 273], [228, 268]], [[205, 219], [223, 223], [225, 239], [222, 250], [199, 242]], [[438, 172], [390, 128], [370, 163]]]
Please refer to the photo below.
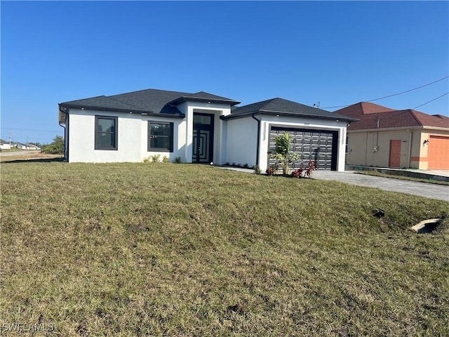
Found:
[[[272, 126], [269, 133], [269, 150], [274, 150], [276, 145], [274, 138], [284, 132], [290, 133], [290, 150], [300, 154], [301, 158], [295, 161], [293, 169], [299, 169], [315, 161], [319, 170], [337, 169], [337, 131], [310, 130], [302, 128], [280, 128]], [[268, 164], [275, 164], [274, 159], [269, 158]]]

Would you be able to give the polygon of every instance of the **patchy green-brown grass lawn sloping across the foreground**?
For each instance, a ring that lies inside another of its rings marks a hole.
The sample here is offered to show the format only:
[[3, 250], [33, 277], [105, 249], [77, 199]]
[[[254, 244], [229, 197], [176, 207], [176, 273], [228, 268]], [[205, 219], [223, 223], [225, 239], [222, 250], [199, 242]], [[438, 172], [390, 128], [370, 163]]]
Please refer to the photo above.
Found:
[[0, 328], [448, 336], [448, 220], [408, 229], [448, 209], [210, 166], [4, 163]]

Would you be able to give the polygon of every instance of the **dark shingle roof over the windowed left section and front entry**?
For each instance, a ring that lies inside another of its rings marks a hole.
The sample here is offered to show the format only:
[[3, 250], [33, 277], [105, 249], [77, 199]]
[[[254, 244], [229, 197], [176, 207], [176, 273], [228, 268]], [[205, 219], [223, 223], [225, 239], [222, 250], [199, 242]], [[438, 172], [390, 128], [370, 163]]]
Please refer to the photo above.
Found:
[[62, 107], [88, 107], [99, 110], [112, 110], [119, 112], [138, 112], [148, 114], [175, 114], [182, 117], [176, 104], [193, 100], [196, 102], [239, 104], [239, 101], [230, 100], [221, 96], [200, 91], [199, 93], [182, 93], [179, 91], [165, 91], [157, 89], [146, 89], [121, 93], [112, 96], [98, 96], [84, 100], [72, 100], [60, 103]]

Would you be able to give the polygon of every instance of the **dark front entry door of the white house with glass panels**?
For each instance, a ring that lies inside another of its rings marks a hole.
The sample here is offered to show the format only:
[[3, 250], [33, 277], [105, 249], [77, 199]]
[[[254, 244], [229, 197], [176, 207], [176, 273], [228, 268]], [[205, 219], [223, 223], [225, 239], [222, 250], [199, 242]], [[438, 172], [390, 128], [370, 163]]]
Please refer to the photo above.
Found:
[[194, 113], [192, 163], [213, 161], [213, 114]]

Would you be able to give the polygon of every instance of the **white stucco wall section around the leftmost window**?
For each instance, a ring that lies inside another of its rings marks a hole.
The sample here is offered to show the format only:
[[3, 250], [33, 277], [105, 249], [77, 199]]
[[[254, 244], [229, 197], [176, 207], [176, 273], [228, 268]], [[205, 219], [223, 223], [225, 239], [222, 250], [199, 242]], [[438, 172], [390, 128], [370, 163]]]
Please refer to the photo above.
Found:
[[[70, 162], [142, 161], [140, 114], [71, 109], [69, 112]], [[95, 150], [95, 116], [119, 117], [117, 150]], [[146, 138], [146, 137], [145, 137]]]

